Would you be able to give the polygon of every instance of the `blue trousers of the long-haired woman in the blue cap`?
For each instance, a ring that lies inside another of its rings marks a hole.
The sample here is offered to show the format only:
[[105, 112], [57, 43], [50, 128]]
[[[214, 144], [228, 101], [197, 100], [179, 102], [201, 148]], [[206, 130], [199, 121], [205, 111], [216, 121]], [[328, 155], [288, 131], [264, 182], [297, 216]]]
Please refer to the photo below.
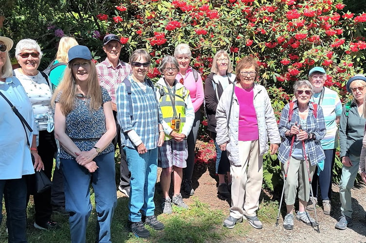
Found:
[[114, 152], [94, 158], [99, 167], [94, 173], [80, 166], [74, 159], [61, 158], [64, 175], [65, 208], [70, 213], [72, 243], [85, 243], [88, 219], [91, 214], [90, 183], [95, 193], [97, 212], [96, 242], [111, 242], [110, 224], [117, 207]]

